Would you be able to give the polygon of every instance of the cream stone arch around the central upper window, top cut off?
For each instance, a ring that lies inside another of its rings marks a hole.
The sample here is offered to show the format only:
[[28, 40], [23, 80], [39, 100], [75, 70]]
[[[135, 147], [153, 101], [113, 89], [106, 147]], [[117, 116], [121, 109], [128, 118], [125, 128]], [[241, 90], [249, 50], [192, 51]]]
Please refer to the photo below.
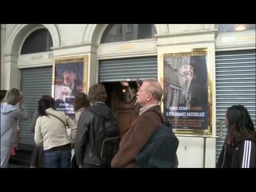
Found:
[[[167, 24], [153, 24], [156, 29], [156, 34], [167, 34], [169, 33]], [[87, 25], [83, 37], [83, 42], [92, 42], [98, 45], [103, 31], [107, 28], [108, 24], [92, 24]]]

